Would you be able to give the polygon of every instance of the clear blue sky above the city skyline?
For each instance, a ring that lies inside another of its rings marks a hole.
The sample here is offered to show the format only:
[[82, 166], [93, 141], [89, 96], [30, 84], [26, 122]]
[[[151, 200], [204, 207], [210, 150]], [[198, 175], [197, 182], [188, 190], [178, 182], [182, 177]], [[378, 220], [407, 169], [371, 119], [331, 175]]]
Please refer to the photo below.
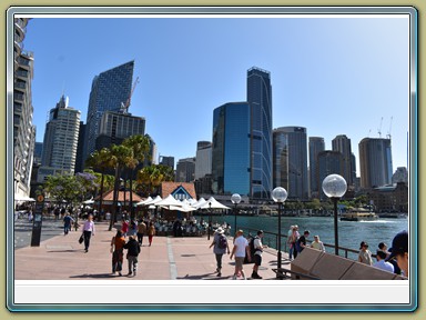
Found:
[[271, 72], [274, 128], [306, 127], [326, 149], [346, 134], [357, 157], [383, 117], [394, 171], [407, 166], [407, 18], [34, 18], [27, 30], [37, 141], [62, 92], [85, 122], [93, 77], [135, 60], [129, 111], [146, 119], [160, 154], [194, 157], [212, 140], [213, 109], [245, 101], [256, 66]]

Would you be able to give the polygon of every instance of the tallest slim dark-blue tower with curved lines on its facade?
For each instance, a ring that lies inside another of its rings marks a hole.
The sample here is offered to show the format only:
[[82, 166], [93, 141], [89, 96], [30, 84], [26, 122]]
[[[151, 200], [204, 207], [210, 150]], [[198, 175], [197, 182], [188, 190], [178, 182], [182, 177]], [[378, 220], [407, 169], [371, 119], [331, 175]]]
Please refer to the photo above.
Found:
[[270, 199], [272, 192], [272, 86], [271, 73], [253, 67], [247, 71], [251, 109], [251, 198]]

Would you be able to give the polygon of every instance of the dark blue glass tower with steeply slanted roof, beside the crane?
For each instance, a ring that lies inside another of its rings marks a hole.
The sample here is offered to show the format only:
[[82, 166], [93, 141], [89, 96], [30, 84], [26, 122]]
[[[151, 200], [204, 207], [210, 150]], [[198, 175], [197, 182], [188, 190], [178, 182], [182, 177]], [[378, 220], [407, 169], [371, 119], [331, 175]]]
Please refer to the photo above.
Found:
[[132, 90], [134, 61], [95, 76], [89, 98], [83, 161], [95, 150], [99, 126], [105, 111], [119, 112]]

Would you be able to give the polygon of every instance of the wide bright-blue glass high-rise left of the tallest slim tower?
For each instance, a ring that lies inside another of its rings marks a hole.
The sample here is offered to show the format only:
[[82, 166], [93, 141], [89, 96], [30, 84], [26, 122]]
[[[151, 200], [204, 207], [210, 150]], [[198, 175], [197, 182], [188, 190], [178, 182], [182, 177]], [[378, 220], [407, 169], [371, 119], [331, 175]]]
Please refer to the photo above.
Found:
[[[251, 108], [247, 102], [230, 102], [214, 109], [213, 193], [252, 196], [250, 123]], [[255, 184], [262, 184], [262, 180], [256, 181]]]

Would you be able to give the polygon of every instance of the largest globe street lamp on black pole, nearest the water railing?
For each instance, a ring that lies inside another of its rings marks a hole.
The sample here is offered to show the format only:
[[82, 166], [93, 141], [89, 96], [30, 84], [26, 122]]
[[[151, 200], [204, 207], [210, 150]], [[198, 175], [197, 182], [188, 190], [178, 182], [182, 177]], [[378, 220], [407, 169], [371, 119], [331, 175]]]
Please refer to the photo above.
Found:
[[334, 203], [334, 250], [336, 256], [338, 256], [337, 201], [346, 193], [346, 180], [342, 176], [329, 174], [325, 177], [323, 181], [323, 191]]

